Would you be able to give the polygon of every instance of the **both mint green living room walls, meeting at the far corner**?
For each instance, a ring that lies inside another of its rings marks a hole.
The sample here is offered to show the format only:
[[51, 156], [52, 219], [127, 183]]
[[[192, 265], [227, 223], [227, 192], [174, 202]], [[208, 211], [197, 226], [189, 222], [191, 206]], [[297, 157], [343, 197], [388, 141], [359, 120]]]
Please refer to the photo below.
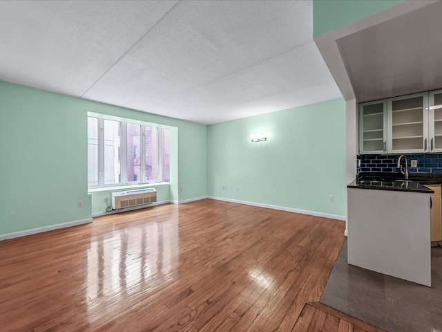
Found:
[[[0, 235], [88, 219], [106, 208], [109, 190], [88, 194], [88, 112], [175, 127], [177, 167], [170, 186], [154, 186], [158, 201], [209, 194], [345, 215], [342, 99], [206, 127], [0, 82]], [[261, 131], [269, 140], [252, 144], [249, 133]]]

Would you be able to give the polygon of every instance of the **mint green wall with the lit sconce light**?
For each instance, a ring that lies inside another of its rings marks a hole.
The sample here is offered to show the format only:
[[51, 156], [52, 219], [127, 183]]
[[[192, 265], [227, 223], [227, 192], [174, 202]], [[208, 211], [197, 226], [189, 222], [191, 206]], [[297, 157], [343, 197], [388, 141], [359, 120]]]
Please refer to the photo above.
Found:
[[343, 99], [213, 124], [207, 149], [209, 196], [346, 215]]

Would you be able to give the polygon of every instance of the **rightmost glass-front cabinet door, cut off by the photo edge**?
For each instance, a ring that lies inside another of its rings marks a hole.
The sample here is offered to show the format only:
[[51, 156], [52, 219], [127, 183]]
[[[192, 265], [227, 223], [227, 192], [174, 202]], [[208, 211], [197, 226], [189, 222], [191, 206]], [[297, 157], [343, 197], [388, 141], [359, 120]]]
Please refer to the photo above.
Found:
[[442, 90], [428, 95], [430, 116], [430, 151], [442, 152]]

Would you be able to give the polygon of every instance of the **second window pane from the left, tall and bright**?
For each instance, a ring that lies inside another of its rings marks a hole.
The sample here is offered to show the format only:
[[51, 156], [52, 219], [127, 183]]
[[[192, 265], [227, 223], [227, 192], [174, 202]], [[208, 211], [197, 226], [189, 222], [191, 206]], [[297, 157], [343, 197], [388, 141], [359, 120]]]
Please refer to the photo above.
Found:
[[119, 122], [104, 120], [104, 185], [121, 182]]

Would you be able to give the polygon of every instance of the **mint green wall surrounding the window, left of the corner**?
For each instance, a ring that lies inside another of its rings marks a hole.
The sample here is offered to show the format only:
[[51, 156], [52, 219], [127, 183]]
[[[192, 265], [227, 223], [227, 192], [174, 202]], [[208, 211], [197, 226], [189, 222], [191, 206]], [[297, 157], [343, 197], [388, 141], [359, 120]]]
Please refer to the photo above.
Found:
[[0, 234], [102, 211], [87, 188], [88, 111], [177, 127], [169, 199], [206, 195], [206, 126], [0, 81]]

